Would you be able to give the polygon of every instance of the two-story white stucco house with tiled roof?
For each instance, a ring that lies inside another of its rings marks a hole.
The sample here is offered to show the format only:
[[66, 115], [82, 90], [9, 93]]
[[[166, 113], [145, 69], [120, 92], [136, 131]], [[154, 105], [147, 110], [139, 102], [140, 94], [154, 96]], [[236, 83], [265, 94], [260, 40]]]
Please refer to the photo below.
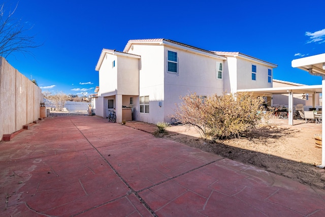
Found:
[[[179, 97], [201, 98], [245, 88], [273, 86], [277, 65], [240, 52], [208, 51], [168, 39], [129, 40], [123, 51], [103, 49], [96, 115], [114, 109], [117, 122], [170, 122]], [[268, 100], [271, 102], [271, 100]]]

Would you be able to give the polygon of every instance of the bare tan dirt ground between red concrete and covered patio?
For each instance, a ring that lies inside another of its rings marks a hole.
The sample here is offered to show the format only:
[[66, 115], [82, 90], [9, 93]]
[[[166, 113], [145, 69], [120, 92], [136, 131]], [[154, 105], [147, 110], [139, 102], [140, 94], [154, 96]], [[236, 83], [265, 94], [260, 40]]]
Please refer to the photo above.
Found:
[[272, 119], [245, 137], [216, 143], [202, 139], [193, 128], [178, 125], [168, 128], [164, 138], [325, 189], [325, 169], [316, 167], [321, 164], [321, 148], [314, 141], [321, 125], [304, 120], [294, 120], [294, 124], [289, 127], [287, 120]]

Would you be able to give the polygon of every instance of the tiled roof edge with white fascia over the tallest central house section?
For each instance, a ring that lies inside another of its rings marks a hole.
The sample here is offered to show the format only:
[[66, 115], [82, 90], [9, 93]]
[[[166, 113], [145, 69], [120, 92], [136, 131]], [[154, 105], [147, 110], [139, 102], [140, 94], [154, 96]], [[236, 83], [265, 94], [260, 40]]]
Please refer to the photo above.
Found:
[[183, 43], [180, 43], [180, 42], [176, 42], [176, 41], [173, 41], [173, 40], [170, 40], [170, 39], [129, 40], [127, 42], [123, 52], [127, 52], [131, 48], [132, 44], [159, 44], [159, 45], [166, 44], [166, 45], [178, 47], [178, 48], [181, 48], [181, 49], [192, 50], [192, 51], [195, 51], [195, 52], [212, 55], [212, 56], [218, 57], [218, 58], [223, 59], [223, 60], [226, 59], [223, 56], [220, 56], [220, 55], [216, 54], [215, 52], [204, 50], [204, 49], [201, 49], [201, 48], [198, 48], [198, 47], [193, 47], [193, 46], [183, 44]]

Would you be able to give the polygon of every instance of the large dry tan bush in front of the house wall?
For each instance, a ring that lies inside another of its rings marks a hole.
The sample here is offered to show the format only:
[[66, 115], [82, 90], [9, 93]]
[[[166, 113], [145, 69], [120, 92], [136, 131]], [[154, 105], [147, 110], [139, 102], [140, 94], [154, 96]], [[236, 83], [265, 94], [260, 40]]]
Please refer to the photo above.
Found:
[[227, 139], [249, 132], [268, 115], [263, 112], [262, 97], [253, 97], [246, 92], [213, 95], [205, 100], [196, 94], [180, 97], [175, 117], [180, 122], [193, 126], [202, 137]]

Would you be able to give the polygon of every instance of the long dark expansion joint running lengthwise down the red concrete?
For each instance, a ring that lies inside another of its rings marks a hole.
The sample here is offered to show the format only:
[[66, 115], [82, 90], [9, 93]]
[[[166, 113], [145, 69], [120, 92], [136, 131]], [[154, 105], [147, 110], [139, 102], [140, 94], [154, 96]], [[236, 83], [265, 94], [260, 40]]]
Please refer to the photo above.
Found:
[[[112, 164], [103, 156], [103, 154], [88, 140], [88, 138], [81, 132], [81, 130], [75, 125], [75, 123], [71, 120], [72, 124], [78, 129], [78, 131], [81, 133], [81, 135], [87, 140], [87, 142], [98, 152], [98, 154], [102, 157], [102, 159], [110, 166], [110, 168], [114, 171], [114, 173], [124, 182], [124, 184], [127, 186], [127, 188], [133, 193], [139, 201], [147, 208], [147, 210], [152, 214], [152, 216], [158, 216], [153, 209], [142, 199], [142, 197], [136, 192], [131, 185], [129, 185], [125, 179], [115, 170], [115, 168], [112, 166]], [[129, 195], [129, 194], [128, 194]]]

